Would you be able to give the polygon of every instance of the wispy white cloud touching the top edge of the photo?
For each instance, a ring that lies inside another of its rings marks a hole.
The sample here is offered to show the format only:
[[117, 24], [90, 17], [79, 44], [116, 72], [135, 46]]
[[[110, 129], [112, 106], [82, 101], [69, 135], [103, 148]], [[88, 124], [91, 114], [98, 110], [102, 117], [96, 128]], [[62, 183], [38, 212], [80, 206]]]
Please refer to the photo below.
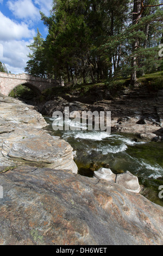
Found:
[[8, 8], [18, 19], [38, 20], [40, 19], [39, 9], [35, 7], [32, 0], [8, 1]]

